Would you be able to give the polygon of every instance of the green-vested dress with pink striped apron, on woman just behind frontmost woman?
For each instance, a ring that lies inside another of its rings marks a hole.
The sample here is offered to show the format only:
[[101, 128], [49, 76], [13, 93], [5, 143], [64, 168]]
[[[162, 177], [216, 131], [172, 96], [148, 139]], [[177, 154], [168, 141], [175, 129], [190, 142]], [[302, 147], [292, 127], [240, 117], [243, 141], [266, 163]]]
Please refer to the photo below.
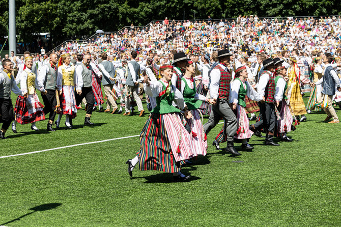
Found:
[[195, 81], [193, 78], [183, 76], [181, 80], [181, 93], [184, 97], [187, 108], [191, 111], [193, 116], [191, 119], [186, 119], [186, 122], [191, 129], [193, 148], [196, 154], [206, 155], [207, 139], [203, 128], [203, 117], [201, 112], [198, 110], [198, 107], [200, 107], [203, 101], [206, 101], [207, 98], [196, 93]]

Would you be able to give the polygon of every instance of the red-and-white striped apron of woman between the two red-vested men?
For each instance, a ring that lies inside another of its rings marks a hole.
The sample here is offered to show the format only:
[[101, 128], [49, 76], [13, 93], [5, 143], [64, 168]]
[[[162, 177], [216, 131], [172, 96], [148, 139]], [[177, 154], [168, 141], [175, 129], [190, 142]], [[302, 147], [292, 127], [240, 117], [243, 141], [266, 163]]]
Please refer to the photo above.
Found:
[[[242, 122], [241, 122], [242, 121]], [[241, 105], [237, 105], [237, 139], [248, 139], [251, 138], [253, 132], [249, 129], [249, 119], [245, 112], [245, 109]]]

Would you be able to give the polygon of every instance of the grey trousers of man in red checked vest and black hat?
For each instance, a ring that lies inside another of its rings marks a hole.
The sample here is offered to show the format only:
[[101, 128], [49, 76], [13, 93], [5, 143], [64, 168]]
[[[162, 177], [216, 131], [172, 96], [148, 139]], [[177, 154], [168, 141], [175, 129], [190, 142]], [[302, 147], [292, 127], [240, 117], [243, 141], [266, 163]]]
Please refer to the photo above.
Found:
[[212, 105], [210, 118], [204, 125], [205, 134], [207, 135], [219, 123], [221, 118], [226, 121], [224, 131], [228, 136], [228, 140], [233, 140], [233, 137], [237, 134], [237, 118], [225, 99], [218, 99], [217, 104]]

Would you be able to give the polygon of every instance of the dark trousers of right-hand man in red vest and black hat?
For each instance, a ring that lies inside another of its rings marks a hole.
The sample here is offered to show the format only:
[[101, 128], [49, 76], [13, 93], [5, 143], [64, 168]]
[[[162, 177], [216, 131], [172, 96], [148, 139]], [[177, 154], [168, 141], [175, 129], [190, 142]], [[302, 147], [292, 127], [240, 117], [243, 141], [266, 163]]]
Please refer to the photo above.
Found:
[[254, 124], [254, 128], [260, 130], [262, 127], [264, 128], [264, 132], [274, 132], [276, 126], [276, 113], [275, 113], [275, 105], [273, 103], [261, 103], [260, 106], [260, 121]]

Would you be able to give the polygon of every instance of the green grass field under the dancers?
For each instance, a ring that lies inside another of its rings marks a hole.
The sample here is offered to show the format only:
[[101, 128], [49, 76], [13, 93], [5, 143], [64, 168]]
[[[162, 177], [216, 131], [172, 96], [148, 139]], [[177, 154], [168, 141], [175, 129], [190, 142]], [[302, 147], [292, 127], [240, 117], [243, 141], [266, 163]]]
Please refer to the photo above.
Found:
[[[77, 115], [72, 130], [65, 118], [56, 132], [18, 124], [14, 134], [10, 128], [0, 156], [138, 135], [148, 118], [94, 112], [95, 126], [83, 127], [84, 110]], [[341, 125], [323, 123], [325, 117], [307, 115], [288, 134], [293, 143], [269, 147], [252, 137], [255, 149], [240, 157], [213, 149], [217, 125], [207, 156], [182, 168], [193, 176], [190, 182], [138, 168], [130, 178], [125, 162], [138, 151], [138, 137], [1, 158], [0, 225], [339, 226]]]

